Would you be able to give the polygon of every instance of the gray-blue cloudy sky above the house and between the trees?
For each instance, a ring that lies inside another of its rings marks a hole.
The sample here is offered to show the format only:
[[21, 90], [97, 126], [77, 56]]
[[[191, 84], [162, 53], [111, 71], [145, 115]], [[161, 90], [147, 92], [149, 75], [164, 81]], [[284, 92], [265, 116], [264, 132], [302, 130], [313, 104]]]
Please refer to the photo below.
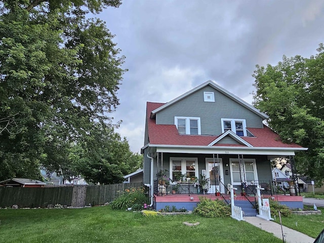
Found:
[[131, 150], [144, 143], [146, 102], [213, 80], [252, 103], [255, 65], [310, 57], [324, 42], [324, 1], [124, 0], [99, 16], [126, 56], [111, 114]]

